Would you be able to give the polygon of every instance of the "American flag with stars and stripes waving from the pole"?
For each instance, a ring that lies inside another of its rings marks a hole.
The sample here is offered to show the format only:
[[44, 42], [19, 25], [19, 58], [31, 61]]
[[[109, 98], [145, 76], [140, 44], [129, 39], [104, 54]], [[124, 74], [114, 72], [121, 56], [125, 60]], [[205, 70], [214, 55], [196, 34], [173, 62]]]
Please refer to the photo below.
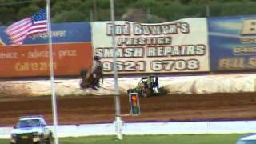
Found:
[[24, 18], [6, 29], [10, 43], [14, 46], [22, 45], [26, 37], [47, 31], [46, 10], [33, 14], [32, 17]]

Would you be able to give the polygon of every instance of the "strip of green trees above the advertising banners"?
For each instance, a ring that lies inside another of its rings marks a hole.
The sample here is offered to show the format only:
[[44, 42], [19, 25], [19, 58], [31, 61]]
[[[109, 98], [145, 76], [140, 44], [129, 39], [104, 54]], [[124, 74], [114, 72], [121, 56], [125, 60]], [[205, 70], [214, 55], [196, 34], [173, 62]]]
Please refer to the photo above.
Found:
[[[116, 20], [130, 9], [146, 16], [139, 22], [168, 22], [180, 18], [256, 14], [255, 0], [115, 0]], [[0, 0], [0, 24], [10, 25], [46, 6], [46, 0]], [[110, 20], [110, 0], [50, 0], [52, 22]], [[138, 15], [130, 12], [130, 15]], [[129, 20], [133, 20], [132, 18]]]

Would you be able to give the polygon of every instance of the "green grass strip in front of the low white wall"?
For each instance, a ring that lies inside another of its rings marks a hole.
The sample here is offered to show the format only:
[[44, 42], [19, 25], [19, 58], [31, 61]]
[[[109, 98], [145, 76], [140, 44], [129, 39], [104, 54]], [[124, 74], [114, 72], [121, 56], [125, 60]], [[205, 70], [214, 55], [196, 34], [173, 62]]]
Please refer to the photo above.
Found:
[[[79, 138], [60, 138], [60, 144], [234, 144], [244, 134], [182, 134], [182, 135], [143, 135], [124, 136], [116, 140], [115, 136], [94, 136]], [[9, 144], [9, 140], [0, 140]]]

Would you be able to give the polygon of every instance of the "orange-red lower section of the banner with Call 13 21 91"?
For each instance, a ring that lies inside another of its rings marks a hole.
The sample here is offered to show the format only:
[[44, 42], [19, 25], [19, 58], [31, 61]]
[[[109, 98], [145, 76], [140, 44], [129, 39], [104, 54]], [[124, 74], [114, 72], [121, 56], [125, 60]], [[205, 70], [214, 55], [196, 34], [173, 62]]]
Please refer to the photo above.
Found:
[[[0, 77], [33, 77], [50, 75], [48, 45], [1, 46]], [[53, 44], [54, 75], [78, 75], [90, 69], [90, 42]]]

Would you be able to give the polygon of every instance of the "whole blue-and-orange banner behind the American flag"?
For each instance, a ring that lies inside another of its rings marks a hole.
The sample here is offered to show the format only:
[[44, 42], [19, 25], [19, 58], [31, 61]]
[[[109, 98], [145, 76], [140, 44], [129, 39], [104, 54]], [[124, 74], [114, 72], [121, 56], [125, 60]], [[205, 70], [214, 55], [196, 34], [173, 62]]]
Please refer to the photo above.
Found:
[[[0, 27], [0, 77], [42, 77], [50, 75], [47, 34], [26, 38], [22, 46], [10, 46]], [[59, 23], [52, 25], [54, 75], [79, 75], [90, 69], [92, 46], [89, 22]]]

